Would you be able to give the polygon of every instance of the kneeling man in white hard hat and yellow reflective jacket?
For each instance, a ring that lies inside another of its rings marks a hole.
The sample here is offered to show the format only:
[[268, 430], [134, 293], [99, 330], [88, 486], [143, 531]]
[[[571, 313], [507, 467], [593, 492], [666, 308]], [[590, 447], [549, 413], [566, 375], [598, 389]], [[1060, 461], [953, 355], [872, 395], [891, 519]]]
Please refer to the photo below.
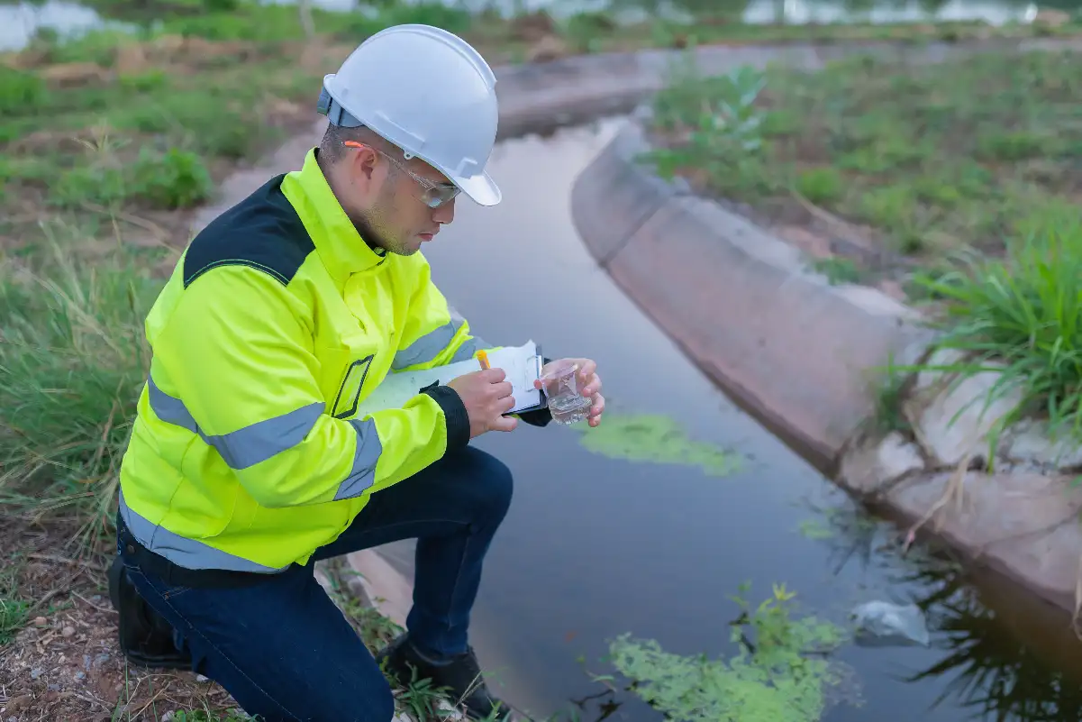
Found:
[[[511, 384], [478, 370], [356, 412], [387, 373], [487, 346], [418, 251], [460, 192], [500, 200], [485, 172], [494, 83], [451, 34], [373, 36], [325, 78], [331, 123], [303, 168], [186, 249], [146, 319], [154, 356], [121, 469], [110, 592], [132, 661], [201, 672], [265, 722], [387, 722], [380, 664], [499, 714], [466, 630], [512, 480], [469, 442], [515, 429]], [[597, 425], [601, 380], [578, 360]], [[313, 564], [406, 538], [413, 607], [378, 662]]]

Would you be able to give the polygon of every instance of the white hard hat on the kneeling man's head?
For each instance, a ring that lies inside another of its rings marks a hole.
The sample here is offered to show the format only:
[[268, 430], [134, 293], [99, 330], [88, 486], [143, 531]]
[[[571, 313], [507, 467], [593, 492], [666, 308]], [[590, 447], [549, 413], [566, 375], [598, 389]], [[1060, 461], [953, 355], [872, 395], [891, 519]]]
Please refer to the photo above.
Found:
[[462, 38], [431, 25], [377, 32], [324, 77], [319, 111], [337, 126], [372, 129], [475, 202], [500, 202], [485, 172], [500, 117], [496, 75]]

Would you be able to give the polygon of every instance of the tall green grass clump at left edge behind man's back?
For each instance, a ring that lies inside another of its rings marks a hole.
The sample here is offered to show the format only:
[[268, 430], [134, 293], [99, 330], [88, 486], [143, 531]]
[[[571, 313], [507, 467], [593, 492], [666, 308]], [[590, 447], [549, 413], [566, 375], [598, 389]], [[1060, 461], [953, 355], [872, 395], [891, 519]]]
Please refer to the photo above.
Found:
[[134, 259], [0, 265], [0, 502], [75, 508], [107, 527], [149, 368], [143, 319], [160, 286]]

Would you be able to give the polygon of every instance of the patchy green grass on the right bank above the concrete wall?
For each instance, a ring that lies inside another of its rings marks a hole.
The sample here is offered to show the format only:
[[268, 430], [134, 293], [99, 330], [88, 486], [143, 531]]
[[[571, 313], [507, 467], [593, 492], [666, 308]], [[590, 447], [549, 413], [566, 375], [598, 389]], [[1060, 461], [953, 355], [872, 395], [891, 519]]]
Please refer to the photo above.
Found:
[[969, 249], [1002, 254], [1004, 239], [1079, 201], [1082, 55], [866, 55], [815, 74], [741, 73], [685, 70], [658, 96], [659, 169], [771, 216], [831, 218], [902, 272]]

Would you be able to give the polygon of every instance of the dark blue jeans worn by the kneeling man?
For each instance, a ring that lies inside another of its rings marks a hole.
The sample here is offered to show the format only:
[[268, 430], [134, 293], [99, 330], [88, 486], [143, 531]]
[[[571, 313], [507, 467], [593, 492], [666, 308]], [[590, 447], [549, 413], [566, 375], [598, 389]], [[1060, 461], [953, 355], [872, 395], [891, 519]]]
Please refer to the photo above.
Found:
[[168, 585], [123, 559], [150, 606], [187, 643], [193, 671], [265, 722], [388, 722], [391, 688], [313, 576], [316, 560], [417, 538], [411, 641], [433, 656], [466, 649], [481, 562], [511, 503], [507, 468], [473, 447], [372, 495], [348, 529], [265, 581], [239, 588]]

